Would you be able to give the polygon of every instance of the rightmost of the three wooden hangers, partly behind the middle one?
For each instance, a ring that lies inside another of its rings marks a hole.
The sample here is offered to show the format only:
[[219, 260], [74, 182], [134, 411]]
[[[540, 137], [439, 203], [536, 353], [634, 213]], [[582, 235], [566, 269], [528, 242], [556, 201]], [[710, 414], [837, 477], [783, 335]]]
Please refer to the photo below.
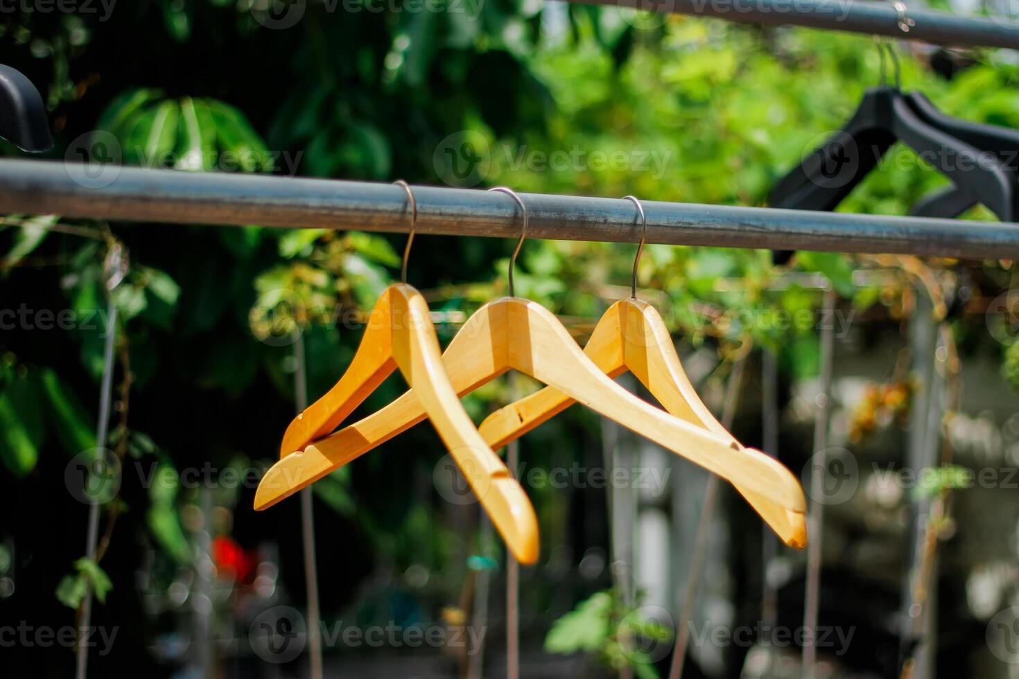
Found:
[[[626, 200], [633, 201], [644, 224], [634, 260], [631, 296], [608, 307], [595, 326], [584, 353], [608, 377], [614, 378], [629, 371], [665, 410], [727, 439], [731, 445], [742, 450], [743, 446], [715, 419], [697, 395], [697, 390], [683, 370], [661, 316], [654, 306], [637, 299], [637, 265], [647, 235], [647, 217], [640, 201], [633, 195], [626, 196]], [[478, 431], [497, 450], [574, 403], [576, 401], [561, 391], [545, 387], [496, 410], [481, 423]], [[773, 459], [772, 463], [782, 466]], [[806, 546], [807, 523], [802, 512], [787, 509], [739, 485], [736, 489], [786, 544], [797, 548]]]

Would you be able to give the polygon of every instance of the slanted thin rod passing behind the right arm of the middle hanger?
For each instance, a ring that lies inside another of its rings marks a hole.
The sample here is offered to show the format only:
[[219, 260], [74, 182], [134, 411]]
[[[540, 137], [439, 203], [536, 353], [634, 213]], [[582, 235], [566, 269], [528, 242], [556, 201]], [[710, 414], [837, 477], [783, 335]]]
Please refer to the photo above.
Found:
[[[727, 430], [733, 427], [736, 417], [736, 406], [743, 382], [743, 369], [746, 357], [740, 356], [733, 363], [733, 372], [726, 385], [726, 401], [721, 407], [721, 426]], [[668, 670], [668, 679], [680, 679], [687, 661], [687, 646], [690, 645], [690, 621], [693, 619], [694, 606], [697, 602], [697, 591], [700, 586], [701, 573], [704, 571], [704, 561], [707, 555], [708, 533], [714, 519], [714, 509], [718, 504], [718, 491], [721, 480], [716, 474], [711, 474], [704, 491], [704, 504], [701, 506], [700, 521], [697, 523], [697, 537], [694, 540], [693, 560], [690, 563], [690, 575], [683, 589], [683, 607], [676, 629], [676, 647], [673, 648], [673, 663]]]

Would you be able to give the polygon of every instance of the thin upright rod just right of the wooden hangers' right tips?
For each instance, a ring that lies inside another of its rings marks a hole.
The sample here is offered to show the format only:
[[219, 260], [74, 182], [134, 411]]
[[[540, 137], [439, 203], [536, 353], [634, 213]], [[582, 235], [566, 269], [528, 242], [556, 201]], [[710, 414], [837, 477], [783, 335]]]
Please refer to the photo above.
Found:
[[[832, 319], [835, 313], [836, 293], [830, 287], [824, 292], [824, 319]], [[814, 411], [814, 453], [810, 465], [810, 514], [807, 531], [807, 582], [803, 605], [803, 668], [805, 679], [816, 676], [817, 610], [820, 600], [821, 580], [821, 529], [824, 525], [824, 505], [820, 498], [824, 493], [824, 471], [827, 469], [827, 433], [832, 417], [832, 356], [835, 351], [835, 324], [821, 326], [820, 375], [817, 379], [816, 409]]]

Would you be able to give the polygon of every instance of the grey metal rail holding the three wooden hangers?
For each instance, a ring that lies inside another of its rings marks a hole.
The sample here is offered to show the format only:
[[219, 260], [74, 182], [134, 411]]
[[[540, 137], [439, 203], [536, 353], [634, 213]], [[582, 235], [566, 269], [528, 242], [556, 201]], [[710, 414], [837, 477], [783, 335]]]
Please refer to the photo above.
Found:
[[[225, 172], [0, 161], [0, 213], [243, 226], [407, 232], [398, 185]], [[503, 193], [415, 186], [422, 234], [520, 235]], [[641, 223], [621, 199], [521, 193], [529, 238], [637, 242]], [[1019, 259], [1019, 224], [645, 202], [647, 242], [841, 252]]]

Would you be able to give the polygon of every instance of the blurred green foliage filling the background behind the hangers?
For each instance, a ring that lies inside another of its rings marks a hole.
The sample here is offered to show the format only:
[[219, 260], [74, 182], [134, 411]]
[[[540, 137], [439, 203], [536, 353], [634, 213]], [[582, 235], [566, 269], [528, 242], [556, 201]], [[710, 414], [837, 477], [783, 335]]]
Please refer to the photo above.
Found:
[[[440, 5], [441, 11], [331, 12], [310, 2], [293, 27], [272, 30], [251, 3], [159, 0], [117, 6], [105, 19], [5, 16], [0, 35], [9, 63], [41, 86], [56, 158], [77, 148], [96, 154], [97, 140], [112, 135], [124, 163], [179, 171], [403, 176], [744, 206], [765, 205], [772, 184], [853, 112], [882, 70], [869, 38], [839, 33], [536, 0]], [[1019, 66], [976, 54], [948, 78], [930, 66], [926, 48], [899, 49], [904, 88], [923, 91], [947, 113], [1019, 127]], [[943, 182], [897, 147], [841, 210], [906, 214]], [[971, 217], [989, 215], [977, 210]], [[404, 243], [404, 236], [257, 225], [97, 223], [53, 232], [55, 224], [52, 217], [0, 224], [4, 297], [67, 308], [78, 320], [96, 317], [106, 307], [108, 248], [129, 247], [129, 274], [112, 298], [119, 310], [118, 370], [129, 371], [123, 384], [140, 404], [114, 428], [110, 445], [125, 460], [170, 470], [209, 459], [237, 468], [271, 460], [294, 407], [294, 341], [300, 336], [304, 343], [314, 398], [341, 374], [360, 337], [358, 314], [398, 275]], [[635, 240], [636, 228], [635, 217]], [[469, 313], [505, 290], [512, 246], [419, 237], [410, 280], [430, 291], [434, 308]], [[528, 241], [518, 291], [565, 317], [593, 322], [607, 299], [629, 292], [634, 250]], [[856, 266], [828, 253], [804, 253], [796, 264], [823, 273], [843, 297], [859, 294], [860, 305], [874, 303], [876, 295], [853, 284]], [[768, 252], [649, 245], [638, 273], [641, 295], [678, 338], [711, 347], [719, 358], [752, 342], [779, 351], [794, 377], [814, 374], [815, 328], [769, 319], [812, 314], [819, 294], [797, 285], [772, 289], [782, 271]], [[42, 483], [37, 467], [51, 442], [68, 456], [95, 447], [92, 403], [104, 333], [112, 330], [97, 320], [45, 341], [24, 333], [0, 337], [0, 460], [18, 483]], [[455, 326], [439, 330], [448, 339]], [[1013, 364], [1016, 355], [1010, 352]], [[400, 389], [383, 385], [365, 408]], [[480, 416], [506, 399], [503, 387], [491, 385], [467, 404]], [[571, 417], [574, 425], [593, 421], [582, 412]], [[550, 422], [535, 440], [573, 454], [581, 444], [562, 436], [565, 427]], [[439, 454], [427, 436], [405, 436], [408, 449]], [[366, 456], [355, 470], [317, 483], [316, 497], [357, 532], [366, 553], [401, 567], [422, 558], [441, 566], [465, 552], [492, 554], [477, 534], [446, 525], [433, 497], [401, 490], [412, 472], [431, 468], [431, 453], [420, 460], [405, 455], [406, 469], [379, 459], [392, 459], [394, 449]], [[186, 564], [193, 546], [179, 510], [196, 502], [194, 489], [155, 485], [123, 493], [166, 561]], [[534, 496], [543, 534], [554, 540], [566, 501], [550, 491]], [[250, 495], [234, 490], [217, 502], [239, 516]], [[109, 583], [97, 564], [73, 556], [63, 568], [73, 562], [75, 572], [58, 595], [71, 605], [85, 578], [97, 593]], [[449, 570], [447, 588], [463, 568]], [[596, 595], [576, 618], [560, 621], [550, 649], [600, 648], [618, 666], [604, 650], [611, 635], [602, 619], [611, 617], [611, 602], [608, 593]], [[589, 633], [592, 625], [596, 634]]]

